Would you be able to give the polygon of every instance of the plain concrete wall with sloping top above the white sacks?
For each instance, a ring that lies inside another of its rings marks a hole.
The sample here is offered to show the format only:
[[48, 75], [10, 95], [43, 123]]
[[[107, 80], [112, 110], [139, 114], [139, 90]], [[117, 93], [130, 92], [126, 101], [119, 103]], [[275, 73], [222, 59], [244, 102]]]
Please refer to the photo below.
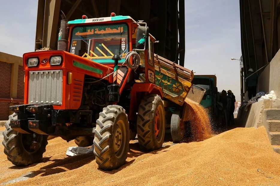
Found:
[[275, 91], [277, 99], [280, 99], [280, 50], [271, 60], [258, 78], [258, 92]]

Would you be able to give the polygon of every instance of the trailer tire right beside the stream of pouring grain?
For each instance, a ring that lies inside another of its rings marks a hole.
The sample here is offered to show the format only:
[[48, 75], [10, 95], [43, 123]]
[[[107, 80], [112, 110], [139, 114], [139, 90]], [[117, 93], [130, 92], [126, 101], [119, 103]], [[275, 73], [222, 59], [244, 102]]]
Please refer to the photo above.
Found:
[[180, 110], [175, 110], [171, 116], [171, 137], [173, 142], [180, 142], [185, 135], [184, 122]]

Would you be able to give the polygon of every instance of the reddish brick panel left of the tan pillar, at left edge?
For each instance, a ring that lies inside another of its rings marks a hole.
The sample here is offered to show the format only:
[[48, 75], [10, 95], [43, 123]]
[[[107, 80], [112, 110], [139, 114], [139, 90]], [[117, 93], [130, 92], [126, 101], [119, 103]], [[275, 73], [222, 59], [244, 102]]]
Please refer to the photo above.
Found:
[[[10, 81], [12, 65], [0, 62], [0, 98], [10, 98]], [[9, 117], [9, 103], [0, 103], [0, 120]]]

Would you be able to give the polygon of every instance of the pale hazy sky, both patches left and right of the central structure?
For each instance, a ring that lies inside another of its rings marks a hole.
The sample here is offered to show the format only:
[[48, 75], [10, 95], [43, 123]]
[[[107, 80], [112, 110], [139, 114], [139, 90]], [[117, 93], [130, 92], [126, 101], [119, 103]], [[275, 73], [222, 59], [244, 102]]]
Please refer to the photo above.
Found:
[[[11, 11], [13, 7], [13, 11]], [[0, 0], [0, 51], [22, 57], [34, 51], [37, 0]], [[240, 100], [240, 13], [237, 0], [185, 0], [185, 67], [216, 74], [219, 92]]]

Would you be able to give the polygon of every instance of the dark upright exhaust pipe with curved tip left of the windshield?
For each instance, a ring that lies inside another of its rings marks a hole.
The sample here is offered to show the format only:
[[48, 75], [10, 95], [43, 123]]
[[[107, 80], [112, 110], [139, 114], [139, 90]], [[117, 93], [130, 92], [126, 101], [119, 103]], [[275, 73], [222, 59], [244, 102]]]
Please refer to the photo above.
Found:
[[60, 10], [59, 14], [61, 16], [61, 22], [60, 22], [60, 30], [58, 33], [57, 50], [68, 51], [68, 44], [69, 44], [69, 41], [67, 39], [67, 37], [68, 37], [68, 29], [67, 29], [68, 20], [66, 20], [65, 14], [61, 10]]

